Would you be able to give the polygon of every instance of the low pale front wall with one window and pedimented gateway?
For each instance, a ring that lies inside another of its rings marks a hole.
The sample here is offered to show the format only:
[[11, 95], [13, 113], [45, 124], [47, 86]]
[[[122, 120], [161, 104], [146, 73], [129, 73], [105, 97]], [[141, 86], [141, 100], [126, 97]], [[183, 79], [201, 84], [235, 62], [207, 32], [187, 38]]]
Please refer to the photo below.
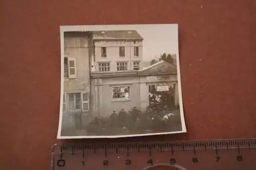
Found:
[[[149, 105], [149, 86], [168, 86], [174, 89], [175, 105], [179, 105], [178, 80], [176, 66], [160, 61], [148, 68], [126, 72], [93, 72], [91, 74], [92, 90], [95, 95], [95, 116], [110, 116], [113, 110], [126, 111], [133, 107], [145, 111]], [[114, 90], [122, 93], [115, 97]], [[127, 94], [126, 94], [127, 93]]]

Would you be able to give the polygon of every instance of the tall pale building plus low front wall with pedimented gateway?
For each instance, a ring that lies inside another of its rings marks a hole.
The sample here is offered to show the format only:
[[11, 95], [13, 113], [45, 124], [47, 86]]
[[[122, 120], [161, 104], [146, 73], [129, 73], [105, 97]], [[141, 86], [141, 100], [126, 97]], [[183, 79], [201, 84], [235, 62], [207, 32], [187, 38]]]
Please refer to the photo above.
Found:
[[[94, 116], [109, 116], [113, 110], [128, 111], [132, 107], [145, 111], [151, 87], [162, 87], [165, 91], [175, 88], [176, 66], [161, 61], [143, 68], [143, 38], [137, 31], [92, 34], [91, 112]], [[164, 75], [168, 76], [163, 78]]]

